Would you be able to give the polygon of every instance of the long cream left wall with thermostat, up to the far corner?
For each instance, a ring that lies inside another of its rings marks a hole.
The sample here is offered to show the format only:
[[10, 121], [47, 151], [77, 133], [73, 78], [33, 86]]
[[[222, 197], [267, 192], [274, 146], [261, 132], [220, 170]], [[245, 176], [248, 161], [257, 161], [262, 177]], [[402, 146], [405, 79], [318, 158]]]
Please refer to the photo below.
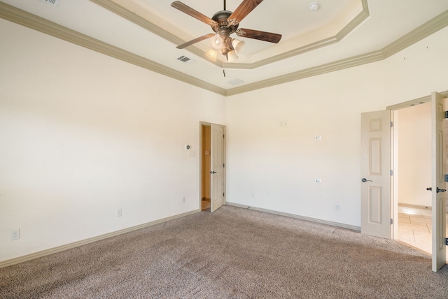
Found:
[[0, 40], [0, 261], [199, 210], [223, 96], [5, 20]]

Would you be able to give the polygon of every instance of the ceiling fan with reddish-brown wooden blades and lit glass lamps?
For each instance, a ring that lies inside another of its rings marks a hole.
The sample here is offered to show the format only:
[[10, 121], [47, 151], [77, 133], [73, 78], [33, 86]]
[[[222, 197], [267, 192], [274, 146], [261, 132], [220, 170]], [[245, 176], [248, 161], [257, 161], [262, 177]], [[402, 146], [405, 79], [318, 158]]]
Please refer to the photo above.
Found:
[[209, 18], [206, 15], [190, 8], [186, 4], [181, 1], [174, 1], [171, 3], [171, 6], [181, 10], [183, 13], [195, 17], [197, 20], [204, 22], [211, 26], [211, 29], [215, 32], [214, 34], [205, 34], [204, 36], [200, 36], [198, 38], [193, 39], [192, 41], [188, 41], [187, 43], [183, 43], [182, 45], [178, 45], [176, 48], [183, 49], [188, 47], [189, 45], [193, 45], [199, 41], [203, 41], [207, 38], [212, 39], [212, 46], [215, 50], [221, 50], [221, 54], [223, 54], [227, 60], [229, 60], [229, 53], [235, 52], [235, 45], [232, 44], [234, 41], [233, 38], [230, 37], [230, 34], [236, 33], [237, 36], [245, 37], [245, 38], [254, 38], [260, 41], [267, 41], [269, 43], [279, 43], [281, 39], [281, 34], [272, 34], [270, 32], [258, 31], [252, 29], [241, 29], [238, 28], [239, 22], [246, 17], [251, 11], [260, 4], [262, 0], [243, 0], [237, 9], [234, 12], [225, 9], [225, 0], [224, 0], [224, 10], [218, 11], [213, 15], [213, 17]]

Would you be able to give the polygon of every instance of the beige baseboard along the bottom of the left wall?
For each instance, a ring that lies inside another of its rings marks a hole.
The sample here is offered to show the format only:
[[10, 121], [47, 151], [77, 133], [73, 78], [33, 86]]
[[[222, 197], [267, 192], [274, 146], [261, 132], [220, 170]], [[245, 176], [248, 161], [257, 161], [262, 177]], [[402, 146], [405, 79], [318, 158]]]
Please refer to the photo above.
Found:
[[34, 252], [33, 254], [27, 254], [25, 256], [19, 256], [17, 258], [11, 258], [11, 259], [6, 260], [6, 261], [1, 261], [0, 262], [0, 268], [5, 268], [5, 267], [8, 267], [10, 265], [23, 263], [25, 261], [31, 261], [34, 258], [41, 258], [42, 256], [48, 256], [50, 254], [55, 254], [57, 252], [64, 251], [64, 250], [67, 250], [67, 249], [71, 249], [71, 248], [75, 248], [75, 247], [78, 247], [78, 246], [81, 246], [81, 245], [86, 245], [86, 244], [89, 244], [89, 243], [92, 243], [92, 242], [96, 242], [96, 241], [99, 241], [99, 240], [104, 240], [104, 239], [107, 239], [107, 238], [115, 237], [116, 235], [121, 235], [123, 233], [130, 233], [131, 231], [137, 231], [137, 230], [139, 230], [141, 228], [146, 228], [148, 226], [153, 226], [155, 224], [160, 224], [160, 223], [163, 223], [163, 222], [166, 222], [166, 221], [178, 219], [178, 218], [181, 218], [181, 217], [186, 217], [186, 216], [191, 215], [191, 214], [196, 214], [197, 212], [201, 212], [201, 210], [198, 209], [198, 210], [193, 210], [193, 211], [182, 213], [182, 214], [177, 214], [177, 215], [174, 215], [174, 216], [171, 216], [171, 217], [167, 217], [167, 218], [163, 218], [163, 219], [147, 222], [146, 224], [140, 224], [138, 226], [132, 226], [130, 228], [124, 228], [124, 229], [122, 229], [120, 231], [113, 231], [112, 233], [106, 233], [104, 235], [98, 235], [98, 236], [93, 237], [93, 238], [88, 238], [88, 239], [85, 239], [85, 240], [80, 240], [80, 241], [69, 243], [69, 244], [66, 244], [66, 245], [61, 245], [61, 246], [58, 246], [58, 247], [45, 249], [43, 251]]

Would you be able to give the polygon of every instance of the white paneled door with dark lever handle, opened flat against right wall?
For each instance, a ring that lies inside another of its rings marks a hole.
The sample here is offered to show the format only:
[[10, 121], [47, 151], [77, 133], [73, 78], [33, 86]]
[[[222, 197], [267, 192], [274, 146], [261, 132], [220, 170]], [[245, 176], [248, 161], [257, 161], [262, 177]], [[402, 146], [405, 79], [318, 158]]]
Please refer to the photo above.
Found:
[[361, 233], [391, 238], [391, 111], [361, 114]]

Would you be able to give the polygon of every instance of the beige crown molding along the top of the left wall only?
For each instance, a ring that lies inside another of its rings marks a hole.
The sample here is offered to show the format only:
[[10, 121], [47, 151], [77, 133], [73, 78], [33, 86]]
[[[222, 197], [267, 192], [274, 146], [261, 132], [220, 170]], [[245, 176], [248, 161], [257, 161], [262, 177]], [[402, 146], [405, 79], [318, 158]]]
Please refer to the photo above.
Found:
[[0, 2], [0, 17], [10, 22], [40, 31], [44, 34], [60, 38], [75, 45], [80, 45], [81, 47], [93, 50], [95, 52], [106, 54], [110, 57], [146, 68], [155, 73], [166, 75], [170, 78], [186, 82], [190, 85], [209, 90], [210, 92], [214, 92], [216, 94], [221, 94], [223, 96], [225, 95], [225, 89], [221, 87], [212, 85], [204, 80], [194, 78], [190, 75], [186, 75], [172, 68], [168, 68], [167, 66], [158, 64], [155, 61], [146, 59], [108, 43], [104, 43], [90, 36], [86, 36], [85, 34], [81, 34], [78, 31], [66, 28], [49, 20], [45, 20], [43, 17], [38, 17], [37, 15], [33, 15], [25, 10], [15, 8], [14, 6], [10, 6], [3, 2]]

